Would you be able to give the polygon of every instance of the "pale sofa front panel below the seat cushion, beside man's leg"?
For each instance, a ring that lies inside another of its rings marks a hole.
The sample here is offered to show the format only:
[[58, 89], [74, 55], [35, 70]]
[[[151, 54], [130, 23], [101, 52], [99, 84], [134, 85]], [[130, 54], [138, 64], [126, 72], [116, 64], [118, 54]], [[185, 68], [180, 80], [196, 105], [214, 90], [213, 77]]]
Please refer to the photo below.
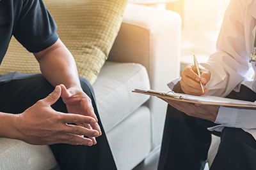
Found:
[[151, 149], [151, 129], [150, 110], [147, 106], [141, 106], [108, 131], [117, 169], [133, 169], [134, 165], [147, 157]]

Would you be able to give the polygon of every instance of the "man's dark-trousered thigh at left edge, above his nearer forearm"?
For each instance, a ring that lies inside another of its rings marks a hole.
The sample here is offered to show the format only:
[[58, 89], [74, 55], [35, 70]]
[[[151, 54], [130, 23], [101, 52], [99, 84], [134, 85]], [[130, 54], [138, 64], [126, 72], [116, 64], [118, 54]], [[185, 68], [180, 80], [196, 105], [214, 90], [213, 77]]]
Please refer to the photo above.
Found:
[[0, 111], [4, 113], [22, 113], [54, 90], [41, 74], [15, 72], [6, 76], [5, 81], [0, 77]]

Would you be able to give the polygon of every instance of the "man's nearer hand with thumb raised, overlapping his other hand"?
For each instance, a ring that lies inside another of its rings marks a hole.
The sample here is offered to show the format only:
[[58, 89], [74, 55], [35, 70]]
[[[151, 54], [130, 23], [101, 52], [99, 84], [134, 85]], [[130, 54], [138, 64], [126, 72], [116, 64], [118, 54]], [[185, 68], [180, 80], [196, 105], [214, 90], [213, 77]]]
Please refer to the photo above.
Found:
[[33, 145], [52, 145], [68, 143], [72, 145], [92, 146], [93, 141], [83, 136], [97, 137], [99, 131], [70, 124], [86, 124], [95, 127], [97, 120], [93, 117], [54, 111], [51, 105], [61, 96], [60, 86], [19, 115], [15, 115], [15, 138]]

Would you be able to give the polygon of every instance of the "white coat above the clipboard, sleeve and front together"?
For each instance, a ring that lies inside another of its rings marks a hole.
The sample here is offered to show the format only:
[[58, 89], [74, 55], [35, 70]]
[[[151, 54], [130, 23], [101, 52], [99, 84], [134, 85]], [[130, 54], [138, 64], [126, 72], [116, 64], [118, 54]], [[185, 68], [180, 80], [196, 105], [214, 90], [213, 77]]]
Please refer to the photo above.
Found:
[[206, 85], [209, 89], [207, 95], [225, 97], [232, 90], [238, 91], [241, 83], [256, 90], [256, 83], [250, 80], [255, 65], [249, 62], [255, 40], [255, 18], [256, 1], [230, 1], [216, 44], [217, 50], [207, 62], [201, 63], [211, 71], [211, 80]]

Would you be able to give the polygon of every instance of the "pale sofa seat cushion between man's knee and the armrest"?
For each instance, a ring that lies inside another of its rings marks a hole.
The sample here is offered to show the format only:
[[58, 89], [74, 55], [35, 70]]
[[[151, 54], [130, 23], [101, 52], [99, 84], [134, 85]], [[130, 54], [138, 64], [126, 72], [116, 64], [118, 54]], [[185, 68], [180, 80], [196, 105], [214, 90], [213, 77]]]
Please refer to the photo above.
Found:
[[108, 132], [149, 99], [132, 90], [150, 89], [150, 83], [147, 70], [141, 64], [107, 61], [93, 88], [100, 119]]

